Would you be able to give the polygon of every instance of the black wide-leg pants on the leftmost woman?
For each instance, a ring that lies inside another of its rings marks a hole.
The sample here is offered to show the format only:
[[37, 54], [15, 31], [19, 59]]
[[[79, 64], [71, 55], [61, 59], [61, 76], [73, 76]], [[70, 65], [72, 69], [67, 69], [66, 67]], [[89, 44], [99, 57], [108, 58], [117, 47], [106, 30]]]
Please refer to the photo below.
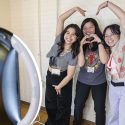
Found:
[[50, 71], [46, 76], [45, 106], [48, 114], [46, 125], [69, 125], [71, 102], [72, 102], [72, 81], [61, 89], [61, 94], [57, 95], [52, 85], [58, 85], [67, 75], [67, 71], [61, 75], [53, 75]]

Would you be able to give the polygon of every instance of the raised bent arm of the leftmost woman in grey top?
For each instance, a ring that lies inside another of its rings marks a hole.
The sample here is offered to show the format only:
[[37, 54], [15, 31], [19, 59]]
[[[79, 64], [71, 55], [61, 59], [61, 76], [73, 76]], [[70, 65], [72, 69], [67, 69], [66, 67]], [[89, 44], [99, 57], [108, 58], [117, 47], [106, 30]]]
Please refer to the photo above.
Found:
[[80, 14], [85, 16], [85, 12], [86, 12], [85, 10], [81, 9], [80, 7], [73, 7], [72, 9], [66, 11], [65, 13], [61, 14], [58, 17], [57, 28], [56, 28], [56, 36], [59, 35], [63, 31], [65, 20], [68, 19], [76, 11], [78, 11]]

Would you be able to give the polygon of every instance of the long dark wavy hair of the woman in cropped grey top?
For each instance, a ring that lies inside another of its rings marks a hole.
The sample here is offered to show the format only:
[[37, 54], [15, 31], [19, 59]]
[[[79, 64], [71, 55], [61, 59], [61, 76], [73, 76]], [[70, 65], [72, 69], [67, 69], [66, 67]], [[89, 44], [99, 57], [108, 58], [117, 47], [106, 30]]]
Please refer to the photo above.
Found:
[[69, 24], [68, 26], [66, 26], [66, 28], [61, 33], [61, 42], [58, 43], [58, 46], [59, 46], [58, 56], [64, 50], [64, 44], [65, 44], [64, 35], [65, 35], [65, 33], [67, 32], [67, 30], [69, 28], [75, 29], [75, 35], [77, 36], [76, 41], [71, 46], [72, 53], [73, 53], [73, 58], [75, 58], [78, 55], [78, 53], [79, 53], [80, 40], [82, 38], [81, 30], [80, 30], [80, 28], [79, 28], [79, 26], [77, 24]]

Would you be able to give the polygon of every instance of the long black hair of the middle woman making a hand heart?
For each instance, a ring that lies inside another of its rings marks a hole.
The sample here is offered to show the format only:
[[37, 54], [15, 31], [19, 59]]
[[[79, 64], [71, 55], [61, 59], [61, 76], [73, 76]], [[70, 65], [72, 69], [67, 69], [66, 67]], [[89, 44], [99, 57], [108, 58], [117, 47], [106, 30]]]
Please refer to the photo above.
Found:
[[[99, 28], [99, 25], [97, 23], [97, 21], [93, 18], [86, 18], [85, 20], [83, 20], [82, 24], [81, 24], [81, 32], [82, 32], [82, 37], [85, 36], [85, 34], [83, 33], [83, 27], [86, 23], [88, 22], [91, 22], [94, 27], [95, 27], [95, 34], [104, 42], [104, 39], [103, 39], [103, 34]], [[83, 49], [84, 51], [86, 50], [86, 48], [88, 47], [88, 44], [85, 44], [83, 46]], [[98, 44], [96, 42], [93, 43], [93, 47], [91, 48], [93, 51], [97, 50], [98, 49]]]

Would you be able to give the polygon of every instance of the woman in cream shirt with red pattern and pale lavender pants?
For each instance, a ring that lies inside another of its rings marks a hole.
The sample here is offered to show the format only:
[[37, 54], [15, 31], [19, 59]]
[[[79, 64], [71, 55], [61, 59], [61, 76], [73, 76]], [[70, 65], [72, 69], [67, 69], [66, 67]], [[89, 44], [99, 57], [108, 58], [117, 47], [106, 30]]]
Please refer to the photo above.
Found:
[[111, 24], [103, 33], [111, 51], [107, 70], [111, 76], [109, 101], [112, 115], [108, 125], [125, 125], [125, 11], [114, 3], [106, 1], [99, 5], [97, 14], [106, 7], [120, 20], [120, 26]]

